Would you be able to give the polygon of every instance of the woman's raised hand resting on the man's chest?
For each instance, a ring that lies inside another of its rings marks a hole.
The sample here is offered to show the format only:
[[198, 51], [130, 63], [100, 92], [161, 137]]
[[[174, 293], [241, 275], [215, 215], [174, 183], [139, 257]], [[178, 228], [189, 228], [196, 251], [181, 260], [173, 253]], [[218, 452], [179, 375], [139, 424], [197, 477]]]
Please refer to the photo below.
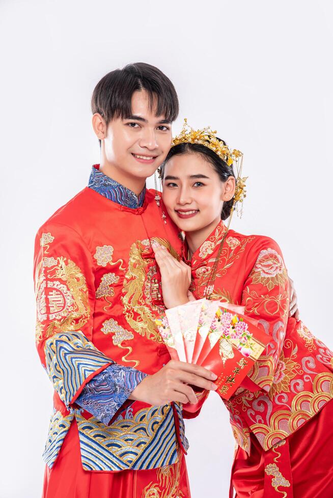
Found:
[[191, 269], [183, 261], [177, 261], [158, 242], [152, 242], [156, 263], [161, 272], [161, 284], [163, 301], [166, 308], [173, 308], [180, 304], [187, 303], [190, 299], [187, 296], [191, 283]]

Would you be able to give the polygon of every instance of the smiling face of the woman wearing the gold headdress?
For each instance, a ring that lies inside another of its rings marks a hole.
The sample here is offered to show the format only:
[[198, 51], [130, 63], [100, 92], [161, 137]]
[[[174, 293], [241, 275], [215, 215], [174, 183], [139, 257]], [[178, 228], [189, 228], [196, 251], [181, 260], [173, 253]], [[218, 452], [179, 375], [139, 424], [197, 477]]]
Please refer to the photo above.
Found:
[[163, 202], [184, 232], [217, 225], [224, 201], [232, 198], [235, 179], [222, 182], [199, 153], [174, 155], [165, 165]]

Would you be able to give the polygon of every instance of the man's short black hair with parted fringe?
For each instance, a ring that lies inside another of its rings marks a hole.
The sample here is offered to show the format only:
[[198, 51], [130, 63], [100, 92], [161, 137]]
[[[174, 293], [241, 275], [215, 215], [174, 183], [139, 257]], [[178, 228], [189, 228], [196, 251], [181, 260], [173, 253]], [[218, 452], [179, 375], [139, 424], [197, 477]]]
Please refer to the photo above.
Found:
[[162, 71], [145, 63], [129, 64], [103, 76], [93, 91], [91, 110], [93, 114], [98, 112], [106, 124], [113, 118], [129, 117], [136, 90], [147, 91], [150, 109], [156, 102], [156, 116], [175, 121], [179, 103], [174, 85]]

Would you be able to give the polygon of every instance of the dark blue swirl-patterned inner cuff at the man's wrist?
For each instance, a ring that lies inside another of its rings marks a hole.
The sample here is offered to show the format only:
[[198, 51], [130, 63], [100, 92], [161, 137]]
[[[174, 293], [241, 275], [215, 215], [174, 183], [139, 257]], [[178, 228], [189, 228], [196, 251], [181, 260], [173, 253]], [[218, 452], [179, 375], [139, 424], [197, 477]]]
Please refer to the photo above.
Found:
[[109, 365], [86, 384], [75, 402], [107, 425], [146, 376], [128, 366]]

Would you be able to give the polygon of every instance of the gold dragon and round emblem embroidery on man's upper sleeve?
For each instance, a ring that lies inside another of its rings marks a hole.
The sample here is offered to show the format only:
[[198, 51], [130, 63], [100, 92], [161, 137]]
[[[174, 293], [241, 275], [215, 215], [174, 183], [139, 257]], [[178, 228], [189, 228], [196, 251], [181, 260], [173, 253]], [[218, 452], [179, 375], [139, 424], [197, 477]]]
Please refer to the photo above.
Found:
[[[51, 269], [52, 268], [52, 269]], [[43, 258], [36, 269], [36, 339], [65, 330], [79, 330], [90, 317], [86, 279], [67, 258]]]

